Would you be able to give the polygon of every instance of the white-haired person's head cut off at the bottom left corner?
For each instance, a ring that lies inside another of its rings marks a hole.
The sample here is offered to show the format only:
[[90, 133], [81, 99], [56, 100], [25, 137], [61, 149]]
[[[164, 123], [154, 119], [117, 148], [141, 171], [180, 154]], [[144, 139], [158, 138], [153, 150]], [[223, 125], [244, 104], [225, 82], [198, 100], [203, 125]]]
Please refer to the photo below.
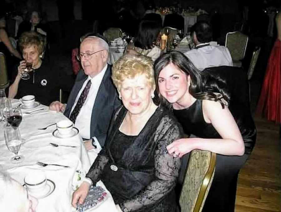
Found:
[[27, 189], [0, 171], [0, 208], [9, 212], [35, 212], [38, 200]]

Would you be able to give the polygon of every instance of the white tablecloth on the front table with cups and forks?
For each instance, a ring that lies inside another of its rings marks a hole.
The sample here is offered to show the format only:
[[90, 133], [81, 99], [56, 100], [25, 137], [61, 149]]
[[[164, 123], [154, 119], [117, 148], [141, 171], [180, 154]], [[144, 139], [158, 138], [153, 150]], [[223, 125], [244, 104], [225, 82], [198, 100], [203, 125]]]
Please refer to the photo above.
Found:
[[[12, 100], [13, 106], [19, 104], [18, 100]], [[23, 179], [27, 173], [33, 170], [43, 170], [47, 179], [55, 183], [55, 190], [49, 196], [39, 199], [37, 212], [67, 212], [75, 211], [71, 206], [71, 197], [74, 191], [73, 187], [81, 183], [77, 181], [77, 172], [81, 172], [81, 176], [85, 176], [86, 172], [91, 166], [89, 156], [86, 152], [82, 139], [79, 134], [74, 137], [60, 139], [52, 135], [56, 129], [53, 125], [47, 130], [38, 130], [37, 128], [45, 127], [49, 124], [56, 123], [60, 120], [67, 119], [62, 113], [50, 111], [47, 106], [40, 105], [36, 109], [44, 108], [44, 110], [35, 112], [33, 114], [24, 114], [26, 111], [35, 109], [22, 110], [23, 119], [20, 124], [20, 133], [26, 142], [22, 144], [19, 155], [25, 157], [24, 161], [20, 164], [12, 164], [10, 158], [14, 156], [9, 152], [5, 144], [3, 134], [3, 123], [0, 125], [0, 165], [4, 171], [7, 171], [12, 178], [16, 179], [19, 183], [24, 184]], [[52, 147], [49, 143], [66, 144], [77, 146], [71, 147]], [[37, 161], [43, 163], [54, 163], [70, 166], [71, 168], [63, 168], [59, 166], [46, 166], [41, 167], [36, 164]], [[75, 176], [75, 177], [74, 177]], [[100, 181], [98, 185], [105, 188]], [[106, 189], [106, 188], [105, 188]], [[110, 195], [110, 193], [108, 192]], [[93, 211], [116, 211], [114, 201], [110, 195], [103, 204]]]

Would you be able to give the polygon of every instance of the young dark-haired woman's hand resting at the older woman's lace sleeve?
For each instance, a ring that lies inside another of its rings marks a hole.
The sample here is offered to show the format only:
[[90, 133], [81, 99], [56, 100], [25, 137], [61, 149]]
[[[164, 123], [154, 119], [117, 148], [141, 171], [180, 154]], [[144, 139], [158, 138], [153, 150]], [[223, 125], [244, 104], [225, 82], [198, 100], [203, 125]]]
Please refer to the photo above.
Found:
[[167, 146], [167, 150], [173, 157], [181, 158], [183, 155], [194, 149], [193, 144], [195, 139], [196, 138], [175, 140], [173, 143]]

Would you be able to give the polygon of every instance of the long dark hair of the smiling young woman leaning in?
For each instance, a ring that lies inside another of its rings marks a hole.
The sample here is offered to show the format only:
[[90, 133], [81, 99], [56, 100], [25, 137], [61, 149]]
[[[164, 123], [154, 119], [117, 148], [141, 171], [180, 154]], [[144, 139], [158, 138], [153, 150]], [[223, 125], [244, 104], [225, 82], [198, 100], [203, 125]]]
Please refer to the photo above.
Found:
[[154, 77], [160, 104], [171, 108], [171, 104], [161, 96], [158, 85], [158, 77], [161, 70], [170, 63], [178, 67], [187, 76], [190, 76], [189, 93], [194, 98], [219, 102], [222, 108], [229, 104], [230, 95], [225, 81], [218, 75], [211, 75], [208, 72], [199, 71], [183, 53], [178, 51], [170, 51], [169, 53], [162, 54], [154, 62]]

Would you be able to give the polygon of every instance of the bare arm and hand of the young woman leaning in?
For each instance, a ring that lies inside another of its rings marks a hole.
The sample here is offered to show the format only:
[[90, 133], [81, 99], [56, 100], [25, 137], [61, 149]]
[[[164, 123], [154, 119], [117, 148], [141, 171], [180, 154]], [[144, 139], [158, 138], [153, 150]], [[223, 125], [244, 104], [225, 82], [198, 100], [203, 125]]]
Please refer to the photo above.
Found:
[[244, 141], [240, 130], [230, 113], [220, 103], [203, 100], [203, 114], [207, 123], [211, 123], [222, 139], [187, 138], [174, 141], [167, 146], [170, 154], [183, 156], [193, 149], [211, 151], [223, 155], [243, 155]]

